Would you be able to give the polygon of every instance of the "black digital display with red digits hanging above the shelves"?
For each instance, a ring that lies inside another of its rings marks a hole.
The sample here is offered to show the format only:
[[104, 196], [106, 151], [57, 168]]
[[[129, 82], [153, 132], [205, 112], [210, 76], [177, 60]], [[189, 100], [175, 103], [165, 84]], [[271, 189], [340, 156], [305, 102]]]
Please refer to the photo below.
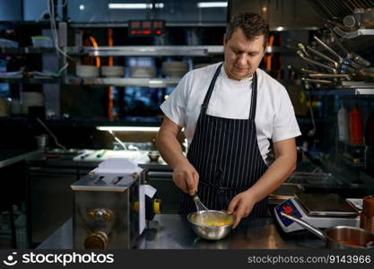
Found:
[[161, 36], [165, 31], [165, 21], [129, 21], [130, 37]]

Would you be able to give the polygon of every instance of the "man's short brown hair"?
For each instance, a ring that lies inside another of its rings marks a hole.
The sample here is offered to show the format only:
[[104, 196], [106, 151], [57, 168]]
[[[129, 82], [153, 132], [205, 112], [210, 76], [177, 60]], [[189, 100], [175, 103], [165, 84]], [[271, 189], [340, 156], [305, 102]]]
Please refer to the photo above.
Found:
[[257, 13], [238, 13], [227, 25], [226, 39], [230, 39], [232, 33], [237, 29], [243, 30], [248, 40], [256, 39], [264, 35], [264, 48], [269, 39], [269, 24]]

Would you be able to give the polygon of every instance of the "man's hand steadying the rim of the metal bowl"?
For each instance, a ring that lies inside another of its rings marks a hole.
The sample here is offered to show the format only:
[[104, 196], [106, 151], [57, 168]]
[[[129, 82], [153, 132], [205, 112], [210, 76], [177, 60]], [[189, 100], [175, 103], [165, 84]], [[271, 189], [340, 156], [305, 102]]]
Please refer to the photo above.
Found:
[[235, 229], [242, 218], [248, 217], [252, 211], [253, 206], [256, 204], [253, 195], [249, 194], [248, 191], [235, 195], [228, 207], [227, 213], [235, 216], [234, 222], [232, 223], [232, 229]]

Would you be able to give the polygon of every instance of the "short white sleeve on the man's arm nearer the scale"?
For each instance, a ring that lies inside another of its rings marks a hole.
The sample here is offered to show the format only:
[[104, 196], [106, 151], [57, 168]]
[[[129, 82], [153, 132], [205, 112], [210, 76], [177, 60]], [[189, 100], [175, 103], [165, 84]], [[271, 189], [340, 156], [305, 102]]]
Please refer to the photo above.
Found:
[[284, 88], [281, 88], [280, 91], [282, 94], [279, 108], [275, 113], [273, 123], [273, 142], [282, 141], [301, 134], [288, 92]]

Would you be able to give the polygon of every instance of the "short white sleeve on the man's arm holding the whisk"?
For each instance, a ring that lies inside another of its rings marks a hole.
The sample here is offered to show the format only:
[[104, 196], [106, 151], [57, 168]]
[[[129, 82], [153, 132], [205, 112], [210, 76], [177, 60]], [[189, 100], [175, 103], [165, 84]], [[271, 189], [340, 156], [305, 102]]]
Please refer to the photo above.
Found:
[[178, 82], [177, 87], [171, 92], [169, 98], [160, 106], [165, 116], [180, 127], [186, 126], [187, 76], [188, 74]]

